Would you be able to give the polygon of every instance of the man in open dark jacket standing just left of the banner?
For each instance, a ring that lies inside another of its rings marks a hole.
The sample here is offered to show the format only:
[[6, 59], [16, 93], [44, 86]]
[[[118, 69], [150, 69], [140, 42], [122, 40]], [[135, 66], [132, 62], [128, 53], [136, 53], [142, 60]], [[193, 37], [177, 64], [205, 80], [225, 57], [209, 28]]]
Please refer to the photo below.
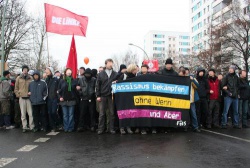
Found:
[[96, 97], [100, 102], [98, 135], [103, 134], [105, 130], [105, 116], [109, 112], [110, 133], [115, 134], [114, 130], [114, 105], [112, 99], [112, 82], [117, 80], [118, 73], [113, 70], [113, 60], [105, 61], [105, 69], [99, 73], [96, 81]]

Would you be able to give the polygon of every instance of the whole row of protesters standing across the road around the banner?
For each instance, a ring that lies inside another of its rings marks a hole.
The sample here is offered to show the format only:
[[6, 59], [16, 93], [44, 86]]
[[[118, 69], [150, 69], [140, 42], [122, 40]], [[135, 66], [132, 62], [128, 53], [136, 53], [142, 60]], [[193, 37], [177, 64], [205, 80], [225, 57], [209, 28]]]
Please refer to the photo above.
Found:
[[[43, 73], [24, 65], [15, 79], [4, 71], [0, 79], [0, 129], [21, 128], [23, 133], [90, 130], [99, 135], [167, 132], [166, 128], [119, 127], [111, 85], [146, 75], [148, 69], [145, 64], [140, 68], [131, 64], [121, 65], [116, 72], [113, 60], [107, 59], [98, 70], [81, 67], [77, 79], [72, 77], [70, 68], [60, 73], [47, 67]], [[165, 68], [155, 74], [190, 76], [189, 124], [194, 132], [200, 132], [202, 127], [227, 129], [231, 125], [228, 118], [233, 128], [249, 128], [250, 86], [245, 70], [236, 73], [236, 67], [231, 65], [224, 76], [216, 74], [215, 69], [204, 68], [191, 74], [183, 66], [175, 71], [169, 58]]]

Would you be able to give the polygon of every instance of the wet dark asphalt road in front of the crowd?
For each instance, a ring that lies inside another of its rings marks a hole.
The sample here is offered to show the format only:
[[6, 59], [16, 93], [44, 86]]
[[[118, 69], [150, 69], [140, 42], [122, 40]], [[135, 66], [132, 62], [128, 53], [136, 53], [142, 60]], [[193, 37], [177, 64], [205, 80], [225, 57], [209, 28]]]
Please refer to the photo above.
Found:
[[[0, 130], [0, 167], [250, 167], [250, 129], [211, 131], [121, 136], [91, 132], [46, 135], [44, 132], [22, 133], [20, 129]], [[34, 142], [39, 138], [49, 139]], [[25, 145], [36, 146], [31, 146], [34, 148], [31, 151], [18, 151]]]

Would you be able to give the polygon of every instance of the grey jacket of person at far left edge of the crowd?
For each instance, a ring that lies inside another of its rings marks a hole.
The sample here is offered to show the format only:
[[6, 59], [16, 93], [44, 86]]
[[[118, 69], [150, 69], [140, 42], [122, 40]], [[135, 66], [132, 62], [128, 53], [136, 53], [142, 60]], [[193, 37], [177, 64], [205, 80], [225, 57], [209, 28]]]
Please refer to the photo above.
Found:
[[0, 100], [7, 100], [11, 97], [10, 80], [2, 77], [0, 79]]

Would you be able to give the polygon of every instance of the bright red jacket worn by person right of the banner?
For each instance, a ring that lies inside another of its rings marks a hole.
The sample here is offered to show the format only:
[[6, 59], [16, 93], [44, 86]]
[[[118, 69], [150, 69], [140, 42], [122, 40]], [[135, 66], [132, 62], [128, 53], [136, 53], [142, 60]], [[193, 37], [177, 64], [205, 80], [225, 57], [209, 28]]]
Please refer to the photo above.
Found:
[[210, 100], [219, 100], [220, 99], [220, 81], [218, 80], [217, 77], [208, 78], [208, 83], [210, 86], [210, 90], [214, 91], [213, 94], [210, 93]]

